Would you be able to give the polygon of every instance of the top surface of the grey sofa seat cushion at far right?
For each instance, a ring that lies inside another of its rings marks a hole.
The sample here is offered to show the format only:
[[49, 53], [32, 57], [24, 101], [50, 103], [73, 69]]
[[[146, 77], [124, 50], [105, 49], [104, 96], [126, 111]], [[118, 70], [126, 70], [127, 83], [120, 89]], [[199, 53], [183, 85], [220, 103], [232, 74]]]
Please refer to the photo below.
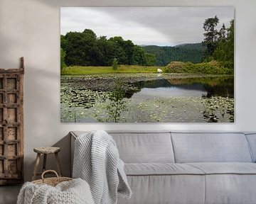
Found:
[[256, 174], [256, 164], [249, 162], [186, 163], [205, 174]]

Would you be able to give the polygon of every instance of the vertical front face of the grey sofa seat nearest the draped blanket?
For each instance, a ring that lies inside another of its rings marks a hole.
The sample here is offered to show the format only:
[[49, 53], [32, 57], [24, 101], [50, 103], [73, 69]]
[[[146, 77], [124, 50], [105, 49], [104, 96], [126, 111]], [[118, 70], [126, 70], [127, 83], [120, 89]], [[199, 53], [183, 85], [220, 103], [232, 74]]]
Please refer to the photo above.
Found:
[[[132, 198], [118, 198], [118, 204], [204, 204], [205, 176], [134, 175], [127, 176]], [[241, 203], [240, 203], [241, 204]]]

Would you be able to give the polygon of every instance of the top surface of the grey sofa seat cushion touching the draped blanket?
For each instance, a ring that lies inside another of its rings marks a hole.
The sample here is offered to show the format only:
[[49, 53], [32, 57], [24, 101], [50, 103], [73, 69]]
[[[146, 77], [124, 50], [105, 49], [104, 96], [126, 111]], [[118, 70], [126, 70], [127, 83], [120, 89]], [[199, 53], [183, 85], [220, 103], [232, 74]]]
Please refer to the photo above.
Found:
[[204, 172], [188, 164], [174, 163], [127, 163], [124, 166], [127, 175], [179, 175], [199, 174]]

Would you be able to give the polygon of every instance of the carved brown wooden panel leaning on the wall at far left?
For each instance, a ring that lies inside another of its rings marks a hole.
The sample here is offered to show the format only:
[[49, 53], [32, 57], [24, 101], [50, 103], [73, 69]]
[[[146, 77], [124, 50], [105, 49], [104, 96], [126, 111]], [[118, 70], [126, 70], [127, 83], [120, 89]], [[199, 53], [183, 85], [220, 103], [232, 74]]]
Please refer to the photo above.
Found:
[[0, 185], [23, 182], [23, 74], [0, 69]]

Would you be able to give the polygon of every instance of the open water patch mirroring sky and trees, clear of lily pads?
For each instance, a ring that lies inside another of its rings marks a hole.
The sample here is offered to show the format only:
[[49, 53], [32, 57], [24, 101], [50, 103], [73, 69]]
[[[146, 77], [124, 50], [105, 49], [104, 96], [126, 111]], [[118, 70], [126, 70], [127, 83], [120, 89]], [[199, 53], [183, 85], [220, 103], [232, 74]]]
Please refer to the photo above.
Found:
[[139, 81], [135, 86], [139, 92], [132, 98], [170, 97], [170, 96], [223, 96], [234, 97], [233, 77], [197, 77], [186, 79], [155, 79]]

